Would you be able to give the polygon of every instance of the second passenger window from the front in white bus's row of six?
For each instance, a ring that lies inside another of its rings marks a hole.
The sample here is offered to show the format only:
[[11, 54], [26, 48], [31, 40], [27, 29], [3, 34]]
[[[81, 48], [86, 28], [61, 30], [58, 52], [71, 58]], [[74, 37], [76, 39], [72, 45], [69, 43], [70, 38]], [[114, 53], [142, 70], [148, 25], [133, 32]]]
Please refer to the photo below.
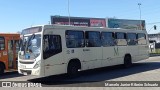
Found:
[[86, 46], [100, 47], [101, 46], [100, 32], [86, 31]]

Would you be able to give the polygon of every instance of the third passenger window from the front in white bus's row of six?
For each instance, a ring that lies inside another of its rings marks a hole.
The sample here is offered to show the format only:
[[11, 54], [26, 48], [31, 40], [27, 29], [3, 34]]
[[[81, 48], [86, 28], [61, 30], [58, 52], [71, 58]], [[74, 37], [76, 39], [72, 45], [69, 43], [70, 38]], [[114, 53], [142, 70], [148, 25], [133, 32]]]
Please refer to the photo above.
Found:
[[114, 46], [114, 33], [112, 32], [102, 32], [102, 45]]

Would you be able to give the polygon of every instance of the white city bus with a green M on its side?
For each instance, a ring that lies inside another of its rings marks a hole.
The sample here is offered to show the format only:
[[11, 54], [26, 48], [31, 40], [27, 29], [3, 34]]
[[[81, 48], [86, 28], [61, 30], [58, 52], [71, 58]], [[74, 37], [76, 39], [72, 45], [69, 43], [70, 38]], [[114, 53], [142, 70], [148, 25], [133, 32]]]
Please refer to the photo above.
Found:
[[43, 25], [22, 31], [18, 72], [46, 77], [124, 64], [149, 57], [145, 30]]

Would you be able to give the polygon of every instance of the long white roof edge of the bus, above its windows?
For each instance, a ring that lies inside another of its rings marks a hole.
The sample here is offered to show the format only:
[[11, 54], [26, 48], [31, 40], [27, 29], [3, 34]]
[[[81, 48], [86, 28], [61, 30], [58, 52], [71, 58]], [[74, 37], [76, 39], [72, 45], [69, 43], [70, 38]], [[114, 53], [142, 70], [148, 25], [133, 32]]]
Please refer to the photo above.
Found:
[[[84, 30], [84, 31], [97, 31], [99, 29], [99, 31], [108, 31], [108, 32], [133, 32], [133, 33], [146, 33], [146, 30], [134, 30], [134, 29], [122, 29], [122, 28], [107, 28], [107, 27], [88, 27], [88, 26], [73, 26], [73, 25], [60, 25], [60, 24], [49, 24], [49, 25], [36, 25], [36, 26], [32, 26], [29, 28], [26, 28], [24, 30], [27, 29], [31, 29], [31, 28], [43, 28], [43, 29], [62, 29], [62, 30]], [[23, 31], [24, 31], [23, 30]], [[22, 32], [23, 32], [22, 31]], [[37, 30], [36, 30], [37, 31]], [[37, 31], [40, 32], [40, 31]], [[34, 32], [36, 33], [36, 32]], [[29, 34], [29, 33], [27, 33]], [[32, 34], [32, 33], [30, 33]]]

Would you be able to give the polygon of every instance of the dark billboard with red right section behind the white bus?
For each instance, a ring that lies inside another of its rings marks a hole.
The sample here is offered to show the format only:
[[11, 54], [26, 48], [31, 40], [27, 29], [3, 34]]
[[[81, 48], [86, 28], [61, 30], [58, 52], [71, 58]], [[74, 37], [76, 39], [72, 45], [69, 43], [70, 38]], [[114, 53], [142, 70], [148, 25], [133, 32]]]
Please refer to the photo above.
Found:
[[106, 27], [106, 20], [105, 18], [68, 17], [68, 16], [56, 15], [56, 16], [51, 16], [51, 24], [88, 26], [88, 27]]

